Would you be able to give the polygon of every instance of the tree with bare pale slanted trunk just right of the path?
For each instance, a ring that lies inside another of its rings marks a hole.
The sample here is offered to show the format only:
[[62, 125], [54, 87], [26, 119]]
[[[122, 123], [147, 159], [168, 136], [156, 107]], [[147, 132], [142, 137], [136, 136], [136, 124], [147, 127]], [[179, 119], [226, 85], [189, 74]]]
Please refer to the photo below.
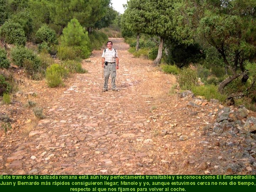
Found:
[[127, 22], [132, 27], [138, 25], [135, 29], [138, 29], [139, 32], [160, 37], [158, 56], [153, 62], [155, 65], [160, 63], [166, 38], [183, 44], [193, 42], [187, 20], [180, 14], [185, 9], [183, 0], [130, 0], [128, 1], [128, 11], [129, 6], [133, 3], [135, 9], [127, 15]]

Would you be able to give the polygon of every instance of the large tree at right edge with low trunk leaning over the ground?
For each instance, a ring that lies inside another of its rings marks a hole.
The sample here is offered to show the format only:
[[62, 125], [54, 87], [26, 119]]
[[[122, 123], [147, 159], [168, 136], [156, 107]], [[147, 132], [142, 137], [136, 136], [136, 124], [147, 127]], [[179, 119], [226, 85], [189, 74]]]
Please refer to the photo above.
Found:
[[[252, 0], [194, 0], [193, 25], [196, 35], [205, 39], [222, 55], [233, 75], [219, 84], [219, 91], [234, 79], [246, 74], [244, 62], [256, 57], [256, 4]], [[204, 10], [204, 11], [202, 11]], [[240, 69], [240, 70], [238, 70]]]

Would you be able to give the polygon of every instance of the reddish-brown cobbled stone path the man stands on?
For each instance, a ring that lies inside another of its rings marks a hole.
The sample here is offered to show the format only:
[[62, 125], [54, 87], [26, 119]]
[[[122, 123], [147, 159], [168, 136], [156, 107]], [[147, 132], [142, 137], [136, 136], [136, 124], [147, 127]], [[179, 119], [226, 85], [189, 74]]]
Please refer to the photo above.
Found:
[[34, 85], [46, 118], [24, 135], [32, 115], [13, 105], [22, 120], [1, 132], [0, 174], [223, 174], [221, 139], [201, 134], [221, 105], [188, 107], [191, 98], [168, 94], [174, 76], [132, 58], [123, 39], [111, 40], [119, 91], [102, 92], [102, 50], [83, 61], [89, 73], [76, 74], [68, 87]]

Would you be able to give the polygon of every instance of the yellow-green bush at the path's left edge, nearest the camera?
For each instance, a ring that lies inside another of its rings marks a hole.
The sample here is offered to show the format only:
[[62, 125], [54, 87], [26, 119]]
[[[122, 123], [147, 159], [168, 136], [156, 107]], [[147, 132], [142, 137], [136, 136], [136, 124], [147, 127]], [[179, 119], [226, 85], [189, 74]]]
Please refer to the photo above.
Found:
[[52, 64], [46, 69], [46, 82], [49, 87], [62, 85], [62, 78], [68, 76], [68, 70], [59, 64]]

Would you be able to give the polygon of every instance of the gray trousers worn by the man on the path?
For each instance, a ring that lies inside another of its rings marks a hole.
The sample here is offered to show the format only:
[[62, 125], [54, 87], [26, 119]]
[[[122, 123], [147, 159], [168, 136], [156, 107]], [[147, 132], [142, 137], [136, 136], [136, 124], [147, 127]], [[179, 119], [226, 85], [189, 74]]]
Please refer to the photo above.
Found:
[[116, 88], [116, 63], [108, 63], [104, 65], [104, 86], [103, 89], [108, 89], [108, 79], [111, 76], [111, 89]]

